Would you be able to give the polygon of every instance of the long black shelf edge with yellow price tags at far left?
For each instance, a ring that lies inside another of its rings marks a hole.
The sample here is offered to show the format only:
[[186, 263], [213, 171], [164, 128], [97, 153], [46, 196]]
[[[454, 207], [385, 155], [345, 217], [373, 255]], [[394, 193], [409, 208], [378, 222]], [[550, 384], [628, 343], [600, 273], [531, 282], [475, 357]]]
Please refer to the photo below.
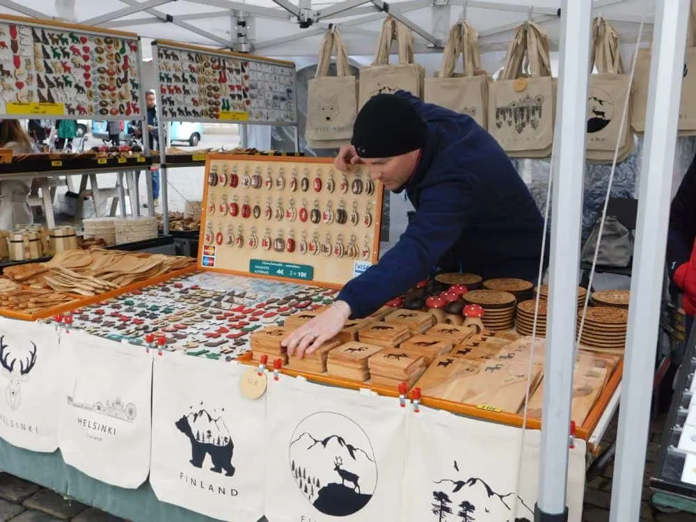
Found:
[[97, 157], [92, 155], [29, 155], [21, 161], [0, 164], [0, 179], [3, 176], [14, 177], [17, 174], [64, 175], [70, 173], [113, 173], [116, 171], [133, 171], [149, 168], [150, 158], [138, 157]]

